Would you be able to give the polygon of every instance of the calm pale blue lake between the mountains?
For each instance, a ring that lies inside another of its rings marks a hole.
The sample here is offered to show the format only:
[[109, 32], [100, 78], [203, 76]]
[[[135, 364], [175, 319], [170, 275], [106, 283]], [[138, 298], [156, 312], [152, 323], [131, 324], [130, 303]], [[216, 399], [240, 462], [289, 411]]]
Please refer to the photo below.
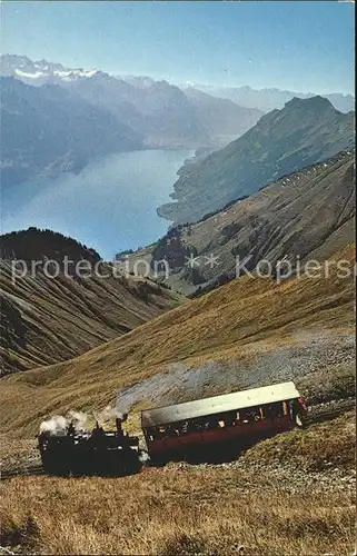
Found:
[[156, 209], [170, 200], [190, 150], [146, 150], [101, 157], [78, 175], [37, 178], [2, 191], [2, 234], [29, 226], [70, 236], [111, 259], [156, 241], [170, 222]]

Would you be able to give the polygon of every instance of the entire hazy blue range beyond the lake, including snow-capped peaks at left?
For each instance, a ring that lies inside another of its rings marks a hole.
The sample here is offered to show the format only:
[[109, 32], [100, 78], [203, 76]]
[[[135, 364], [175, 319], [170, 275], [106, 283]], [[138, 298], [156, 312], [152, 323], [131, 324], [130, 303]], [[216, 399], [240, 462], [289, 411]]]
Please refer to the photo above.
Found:
[[185, 93], [165, 80], [125, 81], [24, 56], [3, 54], [0, 75], [4, 186], [41, 172], [76, 171], [112, 151], [212, 150], [262, 116], [231, 101]]

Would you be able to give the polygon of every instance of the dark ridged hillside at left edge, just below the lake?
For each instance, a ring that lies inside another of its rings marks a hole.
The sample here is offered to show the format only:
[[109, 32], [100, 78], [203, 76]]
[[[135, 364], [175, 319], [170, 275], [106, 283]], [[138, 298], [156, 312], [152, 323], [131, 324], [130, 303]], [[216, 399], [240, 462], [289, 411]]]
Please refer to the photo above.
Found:
[[31, 228], [2, 236], [1, 240], [6, 257], [0, 277], [1, 373], [76, 357], [180, 302], [179, 296], [152, 281], [113, 276], [109, 265], [101, 267], [108, 278], [80, 278], [71, 271], [52, 278], [43, 269], [21, 277], [21, 266], [13, 278], [10, 257], [61, 262], [67, 255], [73, 262], [85, 259], [91, 265], [100, 257], [50, 230]]

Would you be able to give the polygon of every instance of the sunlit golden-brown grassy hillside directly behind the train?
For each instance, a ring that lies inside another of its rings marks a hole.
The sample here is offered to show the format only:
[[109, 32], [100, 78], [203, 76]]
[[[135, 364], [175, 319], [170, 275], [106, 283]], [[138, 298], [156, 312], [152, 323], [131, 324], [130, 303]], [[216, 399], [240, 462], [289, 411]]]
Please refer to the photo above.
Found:
[[[334, 256], [350, 269], [354, 258], [354, 247]], [[208, 361], [244, 365], [294, 345], [299, 334], [350, 332], [354, 290], [353, 277], [339, 278], [334, 265], [327, 278], [301, 277], [280, 285], [267, 278], [234, 280], [76, 359], [3, 378], [2, 430], [33, 431], [39, 416], [54, 410], [102, 408], [116, 399], [118, 388], [158, 373], [160, 381], [162, 374], [169, 377], [172, 364], [192, 369]], [[271, 381], [269, 367], [265, 373], [265, 381]], [[219, 375], [214, 380], [219, 384]], [[179, 401], [176, 387], [171, 390]]]

